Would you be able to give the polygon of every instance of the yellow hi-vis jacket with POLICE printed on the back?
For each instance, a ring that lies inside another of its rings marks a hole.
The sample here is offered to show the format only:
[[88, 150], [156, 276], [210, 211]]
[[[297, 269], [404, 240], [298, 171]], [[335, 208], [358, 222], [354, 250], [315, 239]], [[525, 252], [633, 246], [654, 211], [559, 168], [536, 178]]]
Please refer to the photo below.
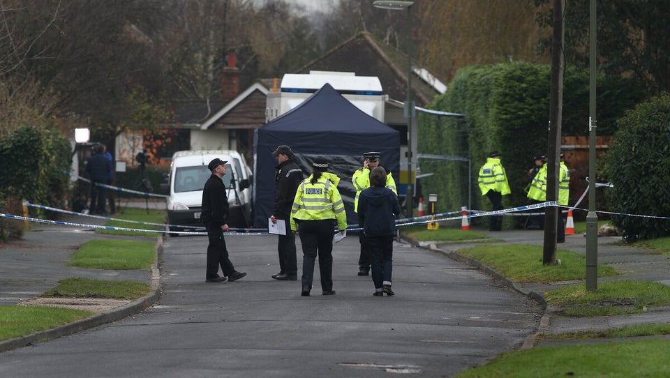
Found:
[[304, 179], [293, 200], [291, 209], [291, 230], [297, 231], [296, 220], [336, 219], [340, 231], [347, 229], [347, 213], [337, 184], [340, 178], [330, 172], [323, 172], [316, 183], [311, 183], [313, 175]]

